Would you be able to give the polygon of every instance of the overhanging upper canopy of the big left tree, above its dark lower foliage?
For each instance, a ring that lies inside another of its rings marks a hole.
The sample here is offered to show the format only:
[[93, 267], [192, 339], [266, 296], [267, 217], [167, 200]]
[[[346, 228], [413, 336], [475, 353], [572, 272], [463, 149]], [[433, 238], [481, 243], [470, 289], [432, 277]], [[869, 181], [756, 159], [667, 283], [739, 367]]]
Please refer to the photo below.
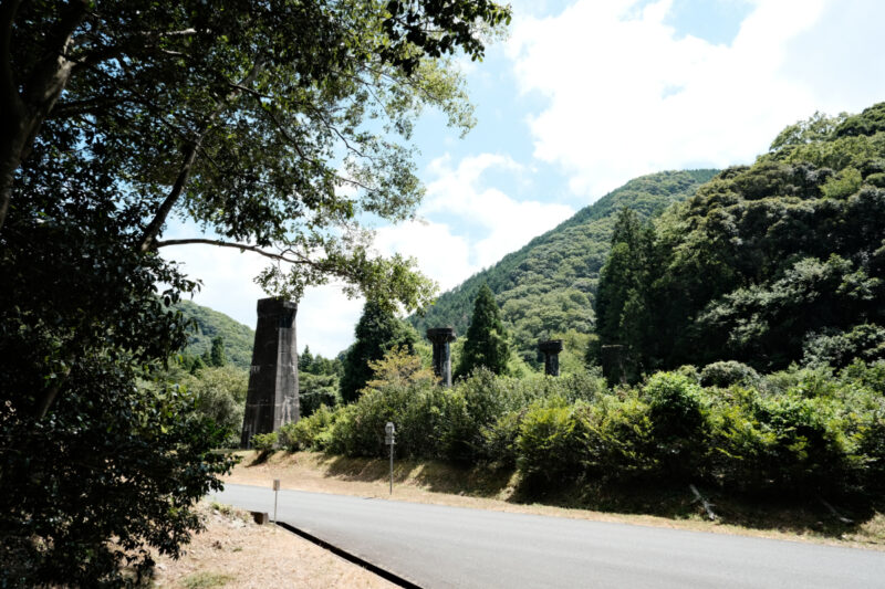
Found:
[[[374, 256], [356, 221], [413, 214], [415, 115], [472, 123], [439, 57], [481, 57], [483, 27], [508, 19], [488, 0], [4, 2], [0, 229], [29, 209], [17, 187], [40, 159], [91, 165], [91, 198], [131, 218], [142, 251], [250, 249], [275, 262], [260, 278], [274, 294], [334, 275], [414, 307], [429, 285]], [[164, 241], [170, 214], [219, 239]]]

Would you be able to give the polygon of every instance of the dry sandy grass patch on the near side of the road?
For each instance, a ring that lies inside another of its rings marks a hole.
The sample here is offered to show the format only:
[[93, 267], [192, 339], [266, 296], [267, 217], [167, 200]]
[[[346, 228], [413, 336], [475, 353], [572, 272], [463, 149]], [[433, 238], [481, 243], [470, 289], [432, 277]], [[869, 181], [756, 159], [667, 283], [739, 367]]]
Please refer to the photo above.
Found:
[[206, 532], [194, 537], [179, 560], [157, 559], [156, 587], [394, 587], [282, 528], [251, 523], [244, 512], [219, 511], [206, 504], [201, 509]]

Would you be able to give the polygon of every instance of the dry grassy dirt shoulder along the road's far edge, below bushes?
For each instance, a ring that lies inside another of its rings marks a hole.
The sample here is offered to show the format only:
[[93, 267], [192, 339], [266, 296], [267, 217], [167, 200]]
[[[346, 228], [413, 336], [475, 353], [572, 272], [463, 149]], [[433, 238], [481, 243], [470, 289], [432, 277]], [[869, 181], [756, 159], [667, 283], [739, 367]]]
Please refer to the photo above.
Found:
[[298, 491], [885, 550], [885, 515], [875, 512], [865, 513], [862, 518], [845, 525], [824, 505], [759, 506], [733, 501], [720, 503], [717, 497], [711, 497], [718, 504], [714, 506], [718, 518], [710, 522], [688, 488], [678, 497], [660, 498], [648, 493], [629, 504], [606, 497], [597, 501], [605, 506], [602, 509], [569, 505], [563, 496], [544, 502], [553, 503], [550, 505], [519, 497], [517, 475], [512, 472], [413, 461], [396, 462], [391, 494], [387, 461], [314, 452], [275, 452], [266, 461], [256, 462], [254, 452], [239, 454], [242, 460], [226, 478], [227, 482], [270, 487], [273, 480], [279, 478], [283, 488]]

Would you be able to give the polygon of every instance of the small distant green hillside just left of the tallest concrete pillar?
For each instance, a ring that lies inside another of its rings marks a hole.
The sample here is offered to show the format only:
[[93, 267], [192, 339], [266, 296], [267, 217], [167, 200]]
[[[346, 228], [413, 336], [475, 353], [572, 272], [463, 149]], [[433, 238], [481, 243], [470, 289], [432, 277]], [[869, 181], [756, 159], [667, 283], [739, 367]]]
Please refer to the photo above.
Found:
[[212, 347], [212, 338], [221, 336], [225, 338], [225, 354], [228, 361], [238, 368], [249, 369], [252, 364], [252, 345], [256, 339], [252, 328], [235, 322], [223, 313], [190, 301], [183, 301], [178, 304], [178, 308], [181, 309], [185, 317], [192, 318], [197, 323], [197, 330], [190, 336], [185, 349], [187, 354], [202, 356]]

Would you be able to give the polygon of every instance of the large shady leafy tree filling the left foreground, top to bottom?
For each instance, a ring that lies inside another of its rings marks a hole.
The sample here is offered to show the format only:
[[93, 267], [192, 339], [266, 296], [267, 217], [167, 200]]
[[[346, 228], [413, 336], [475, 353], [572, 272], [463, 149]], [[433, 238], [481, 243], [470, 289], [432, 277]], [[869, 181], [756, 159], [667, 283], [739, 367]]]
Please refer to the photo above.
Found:
[[[0, 3], [0, 585], [121, 585], [121, 565], [179, 554], [231, 464], [192, 396], [136, 386], [187, 343], [174, 305], [196, 283], [162, 248], [258, 252], [280, 296], [334, 276], [427, 301], [356, 221], [413, 213], [414, 117], [471, 124], [441, 57], [481, 57], [508, 18], [487, 0]], [[170, 214], [212, 239], [164, 240]]]

